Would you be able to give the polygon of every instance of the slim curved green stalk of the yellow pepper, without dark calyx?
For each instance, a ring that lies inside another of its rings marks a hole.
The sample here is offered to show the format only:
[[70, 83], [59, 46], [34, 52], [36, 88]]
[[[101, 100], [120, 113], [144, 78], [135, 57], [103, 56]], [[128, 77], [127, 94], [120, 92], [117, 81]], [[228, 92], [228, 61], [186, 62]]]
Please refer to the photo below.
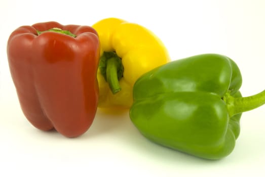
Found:
[[118, 79], [118, 61], [115, 57], [110, 58], [106, 61], [107, 63], [107, 69], [106, 69], [106, 74], [107, 74], [107, 82], [110, 87], [110, 90], [112, 91], [113, 94], [117, 94], [122, 90], [119, 79]]

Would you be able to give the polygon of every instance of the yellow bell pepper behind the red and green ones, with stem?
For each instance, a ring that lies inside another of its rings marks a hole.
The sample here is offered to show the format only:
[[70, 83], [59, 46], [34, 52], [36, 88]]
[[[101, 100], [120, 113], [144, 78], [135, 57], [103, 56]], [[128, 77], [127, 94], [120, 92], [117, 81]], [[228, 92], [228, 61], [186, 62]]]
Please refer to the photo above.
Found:
[[107, 18], [92, 27], [101, 44], [98, 107], [129, 108], [135, 81], [143, 73], [167, 63], [168, 52], [155, 34], [138, 24]]

